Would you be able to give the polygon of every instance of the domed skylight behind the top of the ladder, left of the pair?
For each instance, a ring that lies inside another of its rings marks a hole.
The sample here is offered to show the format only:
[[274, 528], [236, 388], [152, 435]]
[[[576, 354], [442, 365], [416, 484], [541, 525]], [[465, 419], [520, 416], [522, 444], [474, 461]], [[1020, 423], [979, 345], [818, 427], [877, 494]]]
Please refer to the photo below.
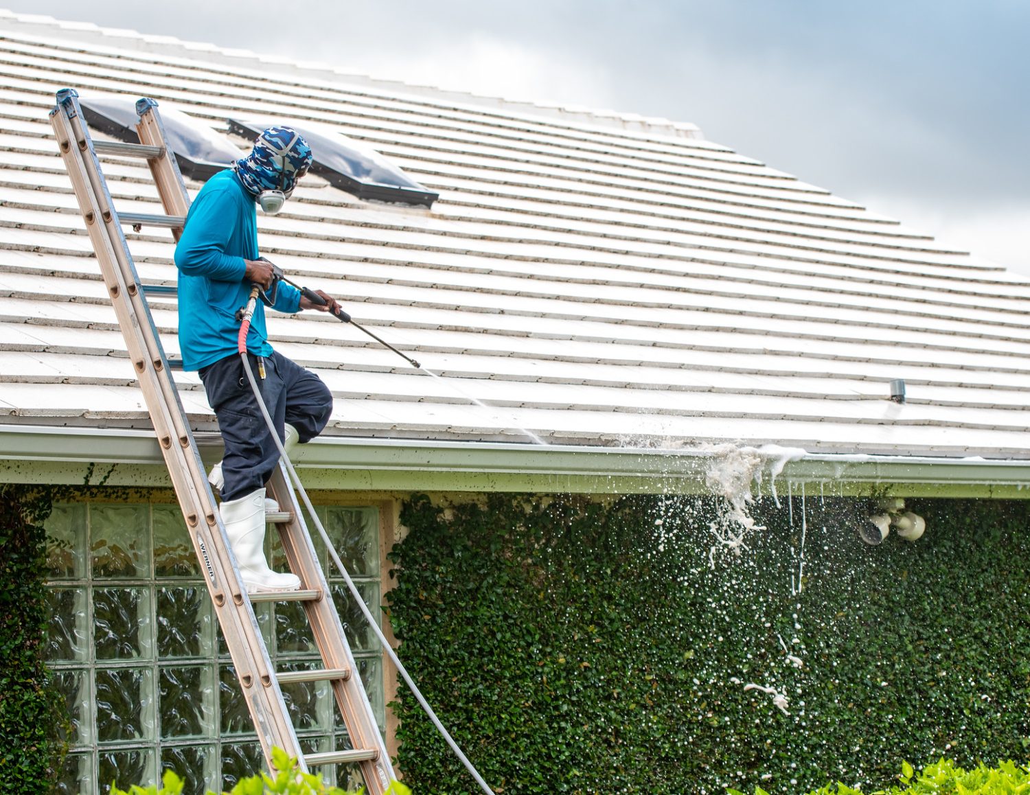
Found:
[[[136, 101], [122, 97], [79, 97], [87, 124], [119, 141], [139, 143]], [[243, 157], [229, 139], [181, 110], [158, 105], [168, 146], [185, 177], [205, 180]]]

